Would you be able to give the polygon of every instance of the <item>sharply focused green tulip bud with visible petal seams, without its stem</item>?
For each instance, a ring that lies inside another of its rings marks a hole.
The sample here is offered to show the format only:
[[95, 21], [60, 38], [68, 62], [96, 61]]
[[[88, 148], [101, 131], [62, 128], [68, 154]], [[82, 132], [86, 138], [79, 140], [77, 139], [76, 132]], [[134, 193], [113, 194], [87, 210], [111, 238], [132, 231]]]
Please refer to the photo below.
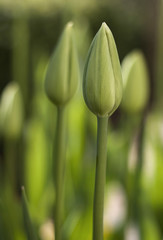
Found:
[[122, 74], [113, 35], [103, 23], [90, 46], [83, 81], [88, 108], [97, 116], [110, 116], [122, 98]]

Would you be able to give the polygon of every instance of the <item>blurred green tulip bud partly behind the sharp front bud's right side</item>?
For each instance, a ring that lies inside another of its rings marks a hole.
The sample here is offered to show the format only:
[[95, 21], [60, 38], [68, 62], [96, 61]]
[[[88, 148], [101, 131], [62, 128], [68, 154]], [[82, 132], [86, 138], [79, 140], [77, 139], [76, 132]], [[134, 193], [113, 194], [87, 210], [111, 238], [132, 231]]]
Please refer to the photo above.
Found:
[[128, 54], [122, 62], [122, 108], [130, 113], [142, 111], [149, 100], [149, 75], [141, 51]]

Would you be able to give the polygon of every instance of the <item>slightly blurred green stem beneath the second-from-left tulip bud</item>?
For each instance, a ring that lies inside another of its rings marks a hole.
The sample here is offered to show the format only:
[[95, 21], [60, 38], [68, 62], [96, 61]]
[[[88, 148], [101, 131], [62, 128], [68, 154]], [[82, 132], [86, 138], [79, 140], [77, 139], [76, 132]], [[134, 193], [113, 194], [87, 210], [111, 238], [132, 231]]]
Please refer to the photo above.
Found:
[[63, 211], [63, 188], [64, 188], [64, 167], [66, 155], [66, 121], [65, 121], [65, 107], [57, 108], [57, 128], [56, 128], [56, 151], [54, 161], [55, 172], [55, 240], [61, 239], [61, 226], [62, 226], [62, 211]]

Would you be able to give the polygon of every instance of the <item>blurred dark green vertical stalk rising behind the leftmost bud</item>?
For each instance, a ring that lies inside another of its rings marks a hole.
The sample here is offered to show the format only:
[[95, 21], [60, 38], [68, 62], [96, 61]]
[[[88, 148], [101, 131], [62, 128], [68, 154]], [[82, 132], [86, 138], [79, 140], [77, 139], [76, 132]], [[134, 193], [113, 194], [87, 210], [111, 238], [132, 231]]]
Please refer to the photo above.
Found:
[[28, 16], [15, 14], [12, 24], [12, 80], [20, 86], [26, 111], [29, 106], [29, 41]]

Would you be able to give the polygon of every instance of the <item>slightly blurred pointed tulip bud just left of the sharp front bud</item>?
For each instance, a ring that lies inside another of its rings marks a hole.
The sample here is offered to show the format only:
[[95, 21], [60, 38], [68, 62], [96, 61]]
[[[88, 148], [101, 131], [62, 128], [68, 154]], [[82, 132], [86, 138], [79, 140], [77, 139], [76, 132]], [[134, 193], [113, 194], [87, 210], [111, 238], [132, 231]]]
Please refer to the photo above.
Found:
[[45, 77], [45, 91], [57, 106], [67, 103], [75, 94], [79, 80], [79, 64], [74, 42], [73, 24], [66, 25], [52, 54]]

